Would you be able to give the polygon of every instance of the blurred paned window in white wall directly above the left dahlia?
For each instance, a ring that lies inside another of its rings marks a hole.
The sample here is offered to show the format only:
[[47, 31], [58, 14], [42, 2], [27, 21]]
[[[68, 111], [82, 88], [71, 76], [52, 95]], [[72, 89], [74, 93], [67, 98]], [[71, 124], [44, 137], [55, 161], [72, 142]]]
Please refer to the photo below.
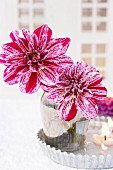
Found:
[[[17, 4], [17, 23], [18, 28], [22, 27], [34, 30], [35, 28], [45, 23], [45, 7], [43, 6], [44, 0], [18, 0]], [[24, 6], [24, 2], [26, 2]], [[39, 4], [41, 3], [41, 4]]]

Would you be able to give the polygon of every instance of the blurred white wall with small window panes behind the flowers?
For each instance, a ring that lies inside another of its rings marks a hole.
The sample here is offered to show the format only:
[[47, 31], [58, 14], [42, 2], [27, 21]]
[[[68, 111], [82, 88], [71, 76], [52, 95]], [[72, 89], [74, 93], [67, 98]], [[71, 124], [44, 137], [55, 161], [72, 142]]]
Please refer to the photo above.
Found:
[[[46, 23], [53, 37], [71, 38], [67, 55], [95, 66], [113, 91], [113, 0], [4, 0], [0, 6], [0, 46], [10, 41], [12, 30], [32, 32]], [[3, 69], [1, 97], [21, 95], [16, 86], [4, 84]]]

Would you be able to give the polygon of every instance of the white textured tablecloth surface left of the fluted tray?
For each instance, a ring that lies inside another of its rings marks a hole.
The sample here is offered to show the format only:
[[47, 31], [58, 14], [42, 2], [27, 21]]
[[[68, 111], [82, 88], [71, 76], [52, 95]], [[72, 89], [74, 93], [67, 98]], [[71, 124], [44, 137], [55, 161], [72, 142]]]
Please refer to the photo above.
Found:
[[41, 151], [36, 136], [42, 127], [37, 98], [0, 99], [0, 170], [75, 169], [51, 161]]

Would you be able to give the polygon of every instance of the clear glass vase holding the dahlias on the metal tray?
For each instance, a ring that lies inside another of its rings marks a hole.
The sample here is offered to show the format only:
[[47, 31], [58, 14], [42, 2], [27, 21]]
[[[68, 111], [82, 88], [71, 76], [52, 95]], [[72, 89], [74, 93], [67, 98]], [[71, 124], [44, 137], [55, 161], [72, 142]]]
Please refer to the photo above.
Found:
[[47, 98], [41, 97], [41, 116], [43, 135], [46, 144], [61, 151], [72, 152], [82, 149], [85, 145], [89, 120], [77, 112], [71, 121], [60, 120], [57, 115], [57, 105]]

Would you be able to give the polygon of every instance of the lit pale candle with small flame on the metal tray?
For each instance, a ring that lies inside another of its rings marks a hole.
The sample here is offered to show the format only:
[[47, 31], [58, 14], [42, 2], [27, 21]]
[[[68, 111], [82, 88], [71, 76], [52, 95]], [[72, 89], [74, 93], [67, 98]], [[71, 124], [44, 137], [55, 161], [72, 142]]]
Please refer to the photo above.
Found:
[[95, 144], [100, 145], [103, 150], [106, 150], [107, 146], [113, 145], [113, 138], [110, 135], [109, 127], [107, 124], [102, 126], [102, 133], [100, 135], [93, 135], [93, 141]]

